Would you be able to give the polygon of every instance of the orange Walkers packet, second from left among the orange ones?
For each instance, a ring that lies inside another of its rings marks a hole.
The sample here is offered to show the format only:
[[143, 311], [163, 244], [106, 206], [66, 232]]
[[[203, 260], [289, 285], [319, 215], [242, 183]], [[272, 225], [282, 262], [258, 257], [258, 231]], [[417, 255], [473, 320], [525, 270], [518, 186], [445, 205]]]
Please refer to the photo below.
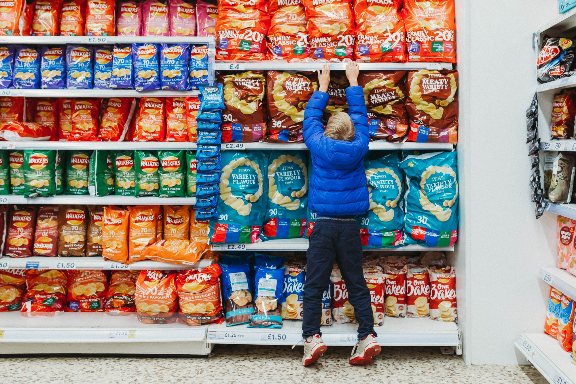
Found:
[[142, 253], [156, 242], [156, 217], [160, 205], [137, 205], [128, 207], [130, 233], [128, 235], [128, 263], [144, 260]]

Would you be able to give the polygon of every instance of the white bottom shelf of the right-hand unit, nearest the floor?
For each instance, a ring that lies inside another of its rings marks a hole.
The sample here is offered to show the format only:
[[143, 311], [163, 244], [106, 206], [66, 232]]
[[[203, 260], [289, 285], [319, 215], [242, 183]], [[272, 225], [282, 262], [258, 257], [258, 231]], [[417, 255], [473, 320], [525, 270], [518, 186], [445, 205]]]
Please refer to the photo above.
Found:
[[514, 345], [548, 382], [576, 384], [576, 364], [554, 337], [544, 333], [522, 333]]

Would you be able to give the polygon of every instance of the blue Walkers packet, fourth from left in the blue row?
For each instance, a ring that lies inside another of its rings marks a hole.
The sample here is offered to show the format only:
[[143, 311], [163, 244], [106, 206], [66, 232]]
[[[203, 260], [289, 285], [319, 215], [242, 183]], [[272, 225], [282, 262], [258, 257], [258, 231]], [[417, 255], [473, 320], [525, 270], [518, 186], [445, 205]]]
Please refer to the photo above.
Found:
[[66, 68], [68, 89], [92, 89], [94, 49], [90, 45], [66, 46]]

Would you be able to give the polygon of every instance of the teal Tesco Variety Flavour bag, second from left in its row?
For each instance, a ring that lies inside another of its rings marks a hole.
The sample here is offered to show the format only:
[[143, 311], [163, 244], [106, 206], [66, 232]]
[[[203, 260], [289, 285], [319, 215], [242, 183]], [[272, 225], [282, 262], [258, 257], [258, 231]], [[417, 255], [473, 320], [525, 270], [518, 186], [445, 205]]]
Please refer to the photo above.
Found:
[[304, 151], [268, 153], [268, 199], [263, 240], [302, 237], [308, 206], [308, 162]]

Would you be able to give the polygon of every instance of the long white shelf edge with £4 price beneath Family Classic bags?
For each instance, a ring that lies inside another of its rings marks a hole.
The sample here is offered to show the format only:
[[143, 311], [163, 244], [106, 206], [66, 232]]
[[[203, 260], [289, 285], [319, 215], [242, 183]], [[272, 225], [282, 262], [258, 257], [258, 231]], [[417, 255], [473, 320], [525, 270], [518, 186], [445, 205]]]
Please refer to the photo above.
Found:
[[[345, 70], [346, 63], [329, 63], [330, 69], [333, 71]], [[323, 62], [287, 62], [286, 60], [217, 61], [214, 64], [214, 69], [217, 71], [315, 71], [318, 68], [322, 68], [324, 64]], [[358, 63], [358, 66], [361, 71], [452, 69], [452, 63]]]

